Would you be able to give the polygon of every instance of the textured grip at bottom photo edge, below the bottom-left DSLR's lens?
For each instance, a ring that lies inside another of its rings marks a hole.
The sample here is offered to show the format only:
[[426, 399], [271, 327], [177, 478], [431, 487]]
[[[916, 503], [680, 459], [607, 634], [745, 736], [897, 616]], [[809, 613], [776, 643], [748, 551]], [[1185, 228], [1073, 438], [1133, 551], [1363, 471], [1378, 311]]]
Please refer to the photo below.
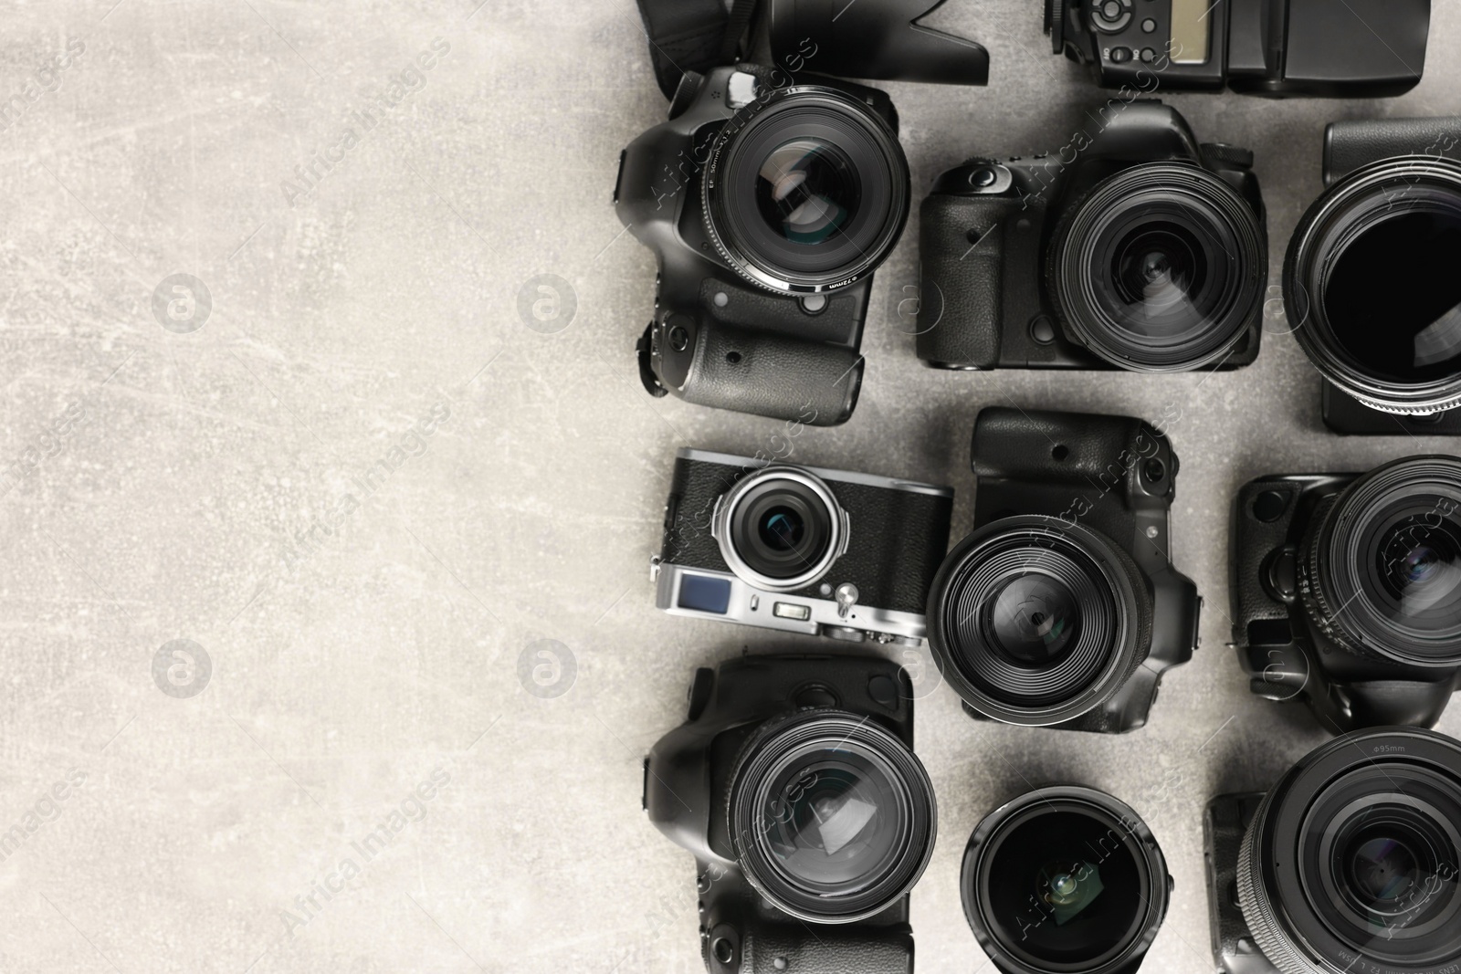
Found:
[[[747, 933], [742, 971], [751, 974], [912, 974], [913, 937], [906, 929], [874, 933], [847, 929], [818, 937], [804, 927]], [[777, 959], [783, 962], [777, 965]]]

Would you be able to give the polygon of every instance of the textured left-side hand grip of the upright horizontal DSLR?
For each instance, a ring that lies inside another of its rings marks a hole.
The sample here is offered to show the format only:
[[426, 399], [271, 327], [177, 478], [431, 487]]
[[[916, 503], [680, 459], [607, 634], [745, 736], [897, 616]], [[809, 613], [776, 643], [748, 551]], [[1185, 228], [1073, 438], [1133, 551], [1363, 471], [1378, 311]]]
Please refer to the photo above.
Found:
[[948, 368], [999, 361], [1004, 221], [1010, 199], [934, 194], [919, 210], [918, 356]]

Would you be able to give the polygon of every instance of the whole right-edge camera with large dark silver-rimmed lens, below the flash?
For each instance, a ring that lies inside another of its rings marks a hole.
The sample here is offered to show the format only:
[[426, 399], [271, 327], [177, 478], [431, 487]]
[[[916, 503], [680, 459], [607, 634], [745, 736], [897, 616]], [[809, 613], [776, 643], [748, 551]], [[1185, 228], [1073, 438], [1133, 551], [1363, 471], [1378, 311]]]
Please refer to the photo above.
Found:
[[1461, 118], [1335, 123], [1324, 181], [1283, 289], [1325, 425], [1461, 435]]

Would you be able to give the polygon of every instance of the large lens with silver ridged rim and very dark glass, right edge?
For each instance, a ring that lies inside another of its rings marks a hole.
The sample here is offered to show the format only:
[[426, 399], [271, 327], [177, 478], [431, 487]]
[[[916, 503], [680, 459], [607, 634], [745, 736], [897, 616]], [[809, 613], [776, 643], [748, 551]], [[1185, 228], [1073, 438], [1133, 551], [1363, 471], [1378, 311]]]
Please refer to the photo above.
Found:
[[1461, 403], [1461, 164], [1391, 159], [1309, 207], [1284, 266], [1305, 353], [1362, 403], [1427, 413]]

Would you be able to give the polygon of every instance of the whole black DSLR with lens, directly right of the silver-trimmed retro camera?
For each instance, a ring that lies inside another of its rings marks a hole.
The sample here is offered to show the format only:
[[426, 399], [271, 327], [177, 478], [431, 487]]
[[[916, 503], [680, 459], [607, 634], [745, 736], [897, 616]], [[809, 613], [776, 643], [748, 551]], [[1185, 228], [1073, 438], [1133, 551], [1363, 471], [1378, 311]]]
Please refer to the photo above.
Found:
[[974, 532], [934, 578], [928, 640], [972, 717], [1121, 733], [1192, 659], [1201, 599], [1169, 559], [1178, 457], [1140, 419], [985, 409]]

